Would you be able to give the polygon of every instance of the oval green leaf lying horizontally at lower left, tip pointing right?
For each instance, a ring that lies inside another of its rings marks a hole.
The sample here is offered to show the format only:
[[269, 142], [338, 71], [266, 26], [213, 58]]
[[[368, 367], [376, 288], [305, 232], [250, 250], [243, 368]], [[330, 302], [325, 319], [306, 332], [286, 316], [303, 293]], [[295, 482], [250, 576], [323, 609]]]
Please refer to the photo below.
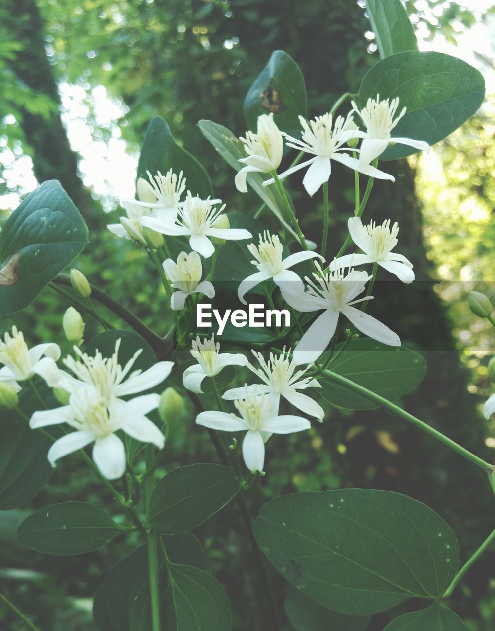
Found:
[[53, 555], [97, 550], [126, 531], [102, 509], [85, 502], [52, 504], [33, 512], [19, 527], [19, 541]]

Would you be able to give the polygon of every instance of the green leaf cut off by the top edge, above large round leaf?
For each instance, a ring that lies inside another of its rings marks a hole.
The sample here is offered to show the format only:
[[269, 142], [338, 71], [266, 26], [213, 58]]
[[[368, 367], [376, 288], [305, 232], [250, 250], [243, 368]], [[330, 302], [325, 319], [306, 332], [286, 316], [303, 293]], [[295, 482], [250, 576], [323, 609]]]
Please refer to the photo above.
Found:
[[380, 58], [417, 50], [414, 28], [400, 0], [366, 0]]

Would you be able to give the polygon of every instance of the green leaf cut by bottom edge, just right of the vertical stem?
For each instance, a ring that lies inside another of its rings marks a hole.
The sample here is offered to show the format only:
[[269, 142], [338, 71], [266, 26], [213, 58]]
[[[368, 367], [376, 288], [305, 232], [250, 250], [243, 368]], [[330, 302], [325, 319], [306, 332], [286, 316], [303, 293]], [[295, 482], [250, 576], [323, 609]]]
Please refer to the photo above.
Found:
[[224, 588], [212, 575], [189, 565], [170, 565], [174, 608], [165, 611], [170, 631], [230, 631], [232, 616]]

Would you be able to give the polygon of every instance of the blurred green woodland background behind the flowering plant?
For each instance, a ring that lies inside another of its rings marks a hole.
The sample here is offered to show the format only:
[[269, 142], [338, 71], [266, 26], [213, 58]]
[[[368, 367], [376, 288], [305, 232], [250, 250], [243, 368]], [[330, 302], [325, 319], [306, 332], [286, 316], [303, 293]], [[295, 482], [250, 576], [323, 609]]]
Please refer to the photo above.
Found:
[[[488, 96], [474, 119], [429, 155], [388, 163], [395, 186], [375, 185], [366, 216], [398, 221], [400, 251], [414, 262], [417, 282], [395, 298], [389, 290], [386, 302], [380, 302], [378, 287], [373, 313], [427, 358], [426, 380], [402, 401], [407, 410], [493, 460], [494, 427], [480, 413], [491, 394], [487, 362], [493, 336], [489, 324], [467, 309], [466, 293], [476, 289], [491, 298], [495, 293], [495, 9], [482, 0], [405, 5], [420, 49], [449, 52], [475, 64], [486, 77]], [[119, 198], [133, 196], [148, 122], [164, 117], [207, 167], [215, 194], [229, 209], [253, 215], [256, 196], [237, 193], [232, 170], [196, 122], [212, 119], [244, 134], [244, 95], [276, 49], [301, 66], [309, 114], [327, 111], [341, 93], [357, 90], [378, 59], [369, 29], [364, 3], [350, 0], [3, 0], [0, 209], [8, 214], [37, 182], [59, 179], [90, 226], [91, 242], [78, 268], [164, 333], [169, 316], [148, 257], [105, 229], [119, 216]], [[319, 241], [321, 205], [309, 203], [298, 188], [300, 179], [294, 180], [303, 230]], [[330, 195], [333, 256], [352, 209], [354, 175], [336, 168]], [[64, 346], [61, 318], [67, 306], [47, 289], [25, 312], [3, 317], [0, 329], [15, 323], [30, 344], [51, 340]], [[88, 322], [86, 339], [98, 332]], [[172, 428], [165, 447], [167, 469], [215, 461], [205, 433], [191, 418], [184, 415]], [[252, 498], [253, 514], [281, 493], [361, 486], [397, 490], [430, 505], [453, 526], [463, 560], [491, 528], [493, 498], [481, 474], [402, 421], [380, 411], [351, 413], [328, 406], [325, 424], [308, 434], [305, 440], [293, 436], [270, 442], [268, 475]], [[29, 507], [0, 514], [0, 591], [44, 630], [93, 629], [92, 595], [105, 570], [133, 545], [117, 540], [83, 557], [57, 558], [16, 542], [17, 524], [42, 505], [67, 499], [108, 505], [91, 473], [76, 466], [74, 459], [62, 461]], [[201, 527], [198, 536], [209, 569], [227, 587], [234, 630], [261, 628], [248, 577], [249, 544], [235, 507]], [[495, 625], [493, 567], [493, 555], [485, 555], [451, 599], [473, 631]], [[278, 576], [274, 579], [282, 602], [285, 586]], [[374, 616], [370, 630], [382, 629], [404, 610]], [[25, 627], [0, 608], [0, 628]]]

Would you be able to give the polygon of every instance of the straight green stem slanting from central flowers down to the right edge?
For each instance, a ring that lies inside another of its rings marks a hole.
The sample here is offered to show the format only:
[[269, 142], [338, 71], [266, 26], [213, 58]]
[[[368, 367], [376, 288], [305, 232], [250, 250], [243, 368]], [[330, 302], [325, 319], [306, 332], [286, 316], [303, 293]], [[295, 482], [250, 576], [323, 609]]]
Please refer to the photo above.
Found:
[[347, 386], [350, 390], [358, 392], [362, 396], [366, 397], [366, 399], [374, 401], [374, 403], [378, 403], [382, 408], [385, 408], [386, 410], [393, 412], [395, 415], [400, 416], [409, 423], [412, 423], [412, 425], [415, 425], [417, 428], [422, 430], [422, 432], [425, 432], [432, 436], [434, 439], [439, 440], [439, 442], [442, 442], [444, 445], [446, 445], [446, 447], [449, 447], [450, 449], [452, 449], [452, 451], [455, 451], [460, 456], [463, 456], [465, 459], [470, 461], [472, 464], [475, 464], [486, 473], [491, 473], [493, 471], [493, 466], [491, 464], [482, 460], [478, 456], [475, 456], [470, 451], [465, 449], [465, 447], [458, 445], [456, 442], [446, 437], [443, 433], [438, 432], [438, 430], [419, 420], [419, 418], [416, 418], [412, 414], [409, 414], [409, 412], [402, 410], [402, 408], [400, 408], [395, 403], [391, 403], [391, 401], [388, 401], [388, 399], [383, 398], [379, 394], [375, 394], [375, 392], [368, 390], [364, 386], [360, 386], [359, 384], [351, 381], [350, 379], [347, 379], [346, 377], [343, 377], [342, 375], [338, 375], [336, 372], [325, 370], [324, 374], [329, 379], [337, 382], [338, 384], [341, 384], [342, 386]]

